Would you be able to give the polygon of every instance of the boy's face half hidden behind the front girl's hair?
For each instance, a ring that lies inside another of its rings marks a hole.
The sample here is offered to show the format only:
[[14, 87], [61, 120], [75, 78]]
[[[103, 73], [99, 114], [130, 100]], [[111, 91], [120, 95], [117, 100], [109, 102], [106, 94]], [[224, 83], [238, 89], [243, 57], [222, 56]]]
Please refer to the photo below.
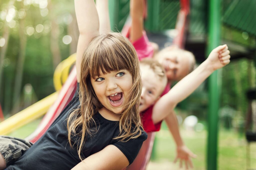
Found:
[[163, 87], [165, 87], [166, 84], [163, 84], [164, 81], [161, 81], [149, 66], [141, 64], [140, 69], [142, 79], [142, 93], [139, 111], [142, 112], [154, 104], [157, 99], [159, 99], [163, 91]]

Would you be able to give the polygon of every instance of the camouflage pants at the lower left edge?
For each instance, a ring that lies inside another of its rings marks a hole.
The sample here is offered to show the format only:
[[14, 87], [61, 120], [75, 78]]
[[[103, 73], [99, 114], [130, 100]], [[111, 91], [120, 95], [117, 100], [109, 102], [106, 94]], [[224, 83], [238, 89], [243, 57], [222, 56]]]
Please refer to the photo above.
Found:
[[24, 139], [0, 136], [0, 153], [3, 155], [7, 166], [15, 162], [32, 145], [32, 142]]

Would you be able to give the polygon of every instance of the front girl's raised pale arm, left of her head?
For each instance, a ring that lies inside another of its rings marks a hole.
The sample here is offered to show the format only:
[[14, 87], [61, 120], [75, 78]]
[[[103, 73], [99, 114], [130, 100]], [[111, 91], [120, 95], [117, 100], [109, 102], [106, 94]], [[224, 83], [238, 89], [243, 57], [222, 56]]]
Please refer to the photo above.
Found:
[[99, 17], [93, 0], [75, 0], [75, 11], [79, 29], [77, 44], [77, 81], [80, 82], [81, 60], [84, 50], [92, 38], [99, 35]]

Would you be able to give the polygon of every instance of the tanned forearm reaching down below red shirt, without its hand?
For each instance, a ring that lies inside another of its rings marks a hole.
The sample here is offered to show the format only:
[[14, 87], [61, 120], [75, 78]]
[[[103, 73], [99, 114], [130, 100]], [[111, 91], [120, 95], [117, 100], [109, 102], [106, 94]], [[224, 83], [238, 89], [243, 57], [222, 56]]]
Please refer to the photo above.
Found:
[[164, 120], [173, 136], [176, 146], [183, 146], [184, 143], [179, 133], [179, 124], [175, 112], [172, 111]]

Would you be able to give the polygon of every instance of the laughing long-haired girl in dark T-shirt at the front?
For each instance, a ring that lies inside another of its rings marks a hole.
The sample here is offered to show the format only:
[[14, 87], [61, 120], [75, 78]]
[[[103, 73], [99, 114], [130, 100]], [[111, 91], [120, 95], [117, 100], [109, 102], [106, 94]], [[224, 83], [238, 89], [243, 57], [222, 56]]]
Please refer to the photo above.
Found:
[[[99, 35], [93, 0], [75, 0], [75, 10], [77, 95], [7, 169], [122, 169], [147, 137], [137, 108], [141, 77], [132, 44], [120, 33]], [[12, 147], [0, 148], [4, 157], [12, 153]]]

